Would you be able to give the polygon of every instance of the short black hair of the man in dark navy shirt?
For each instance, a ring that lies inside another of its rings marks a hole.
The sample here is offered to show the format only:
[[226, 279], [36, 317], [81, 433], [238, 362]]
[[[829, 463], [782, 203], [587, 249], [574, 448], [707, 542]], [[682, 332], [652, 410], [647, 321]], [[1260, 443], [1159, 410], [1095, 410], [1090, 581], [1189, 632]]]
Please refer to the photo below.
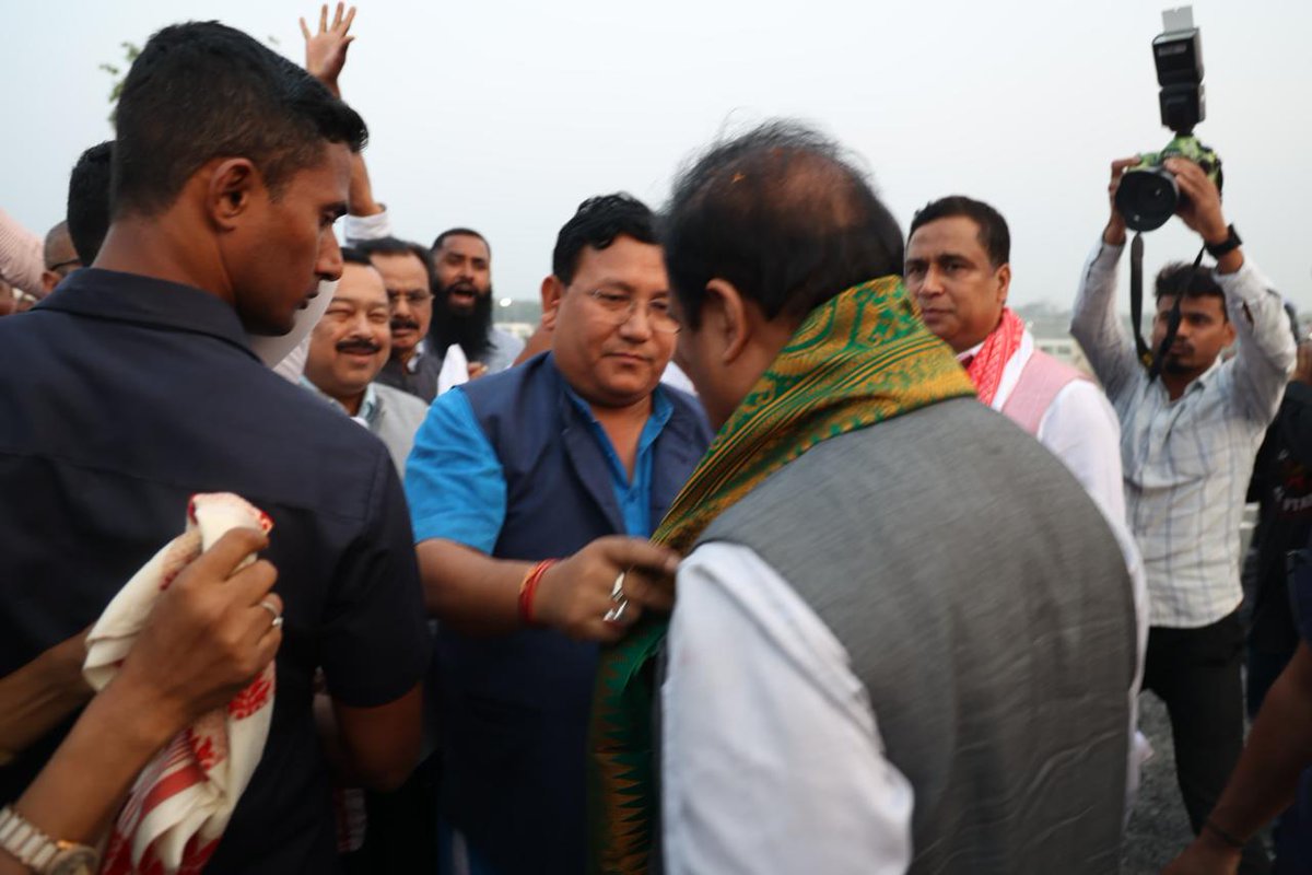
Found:
[[323, 83], [216, 21], [164, 28], [123, 80], [115, 110], [113, 214], [167, 209], [206, 161], [245, 157], [269, 194], [323, 156], [358, 152], [363, 119]]

